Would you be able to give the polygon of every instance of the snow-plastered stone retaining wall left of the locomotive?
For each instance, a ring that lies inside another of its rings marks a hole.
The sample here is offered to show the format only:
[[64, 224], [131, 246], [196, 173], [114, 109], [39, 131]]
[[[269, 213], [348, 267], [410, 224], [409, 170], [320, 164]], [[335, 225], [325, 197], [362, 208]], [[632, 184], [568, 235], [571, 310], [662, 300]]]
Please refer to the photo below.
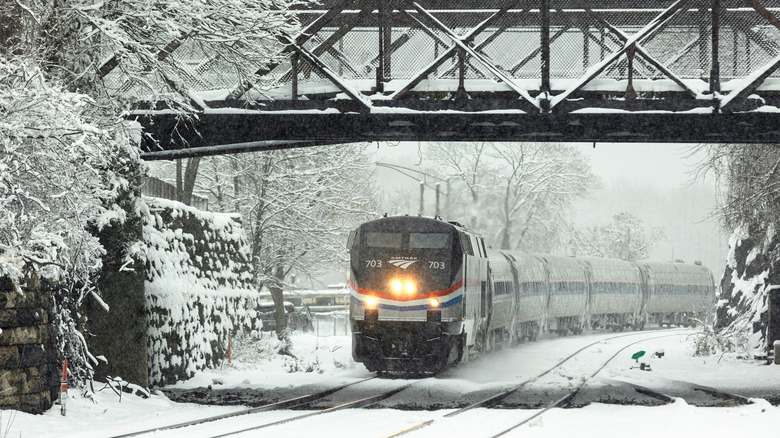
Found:
[[260, 328], [261, 298], [236, 215], [145, 200], [149, 383], [165, 385], [226, 360], [229, 330]]

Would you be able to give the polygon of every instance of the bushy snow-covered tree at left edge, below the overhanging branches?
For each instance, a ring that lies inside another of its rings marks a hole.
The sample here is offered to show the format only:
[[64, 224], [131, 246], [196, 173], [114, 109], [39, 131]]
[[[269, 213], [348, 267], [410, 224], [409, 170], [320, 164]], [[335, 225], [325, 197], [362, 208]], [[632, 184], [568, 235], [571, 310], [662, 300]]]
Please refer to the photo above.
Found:
[[0, 57], [0, 274], [33, 272], [56, 291], [60, 343], [83, 381], [91, 365], [77, 330], [97, 296], [105, 248], [95, 231], [123, 222], [138, 152], [123, 124], [101, 125], [91, 100], [47, 80], [32, 62]]

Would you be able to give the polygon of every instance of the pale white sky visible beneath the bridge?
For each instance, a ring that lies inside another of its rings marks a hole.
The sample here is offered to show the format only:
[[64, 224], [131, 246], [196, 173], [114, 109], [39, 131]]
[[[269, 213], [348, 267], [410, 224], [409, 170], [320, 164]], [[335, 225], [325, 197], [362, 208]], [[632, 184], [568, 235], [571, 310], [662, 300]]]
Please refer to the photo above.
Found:
[[[581, 226], [607, 223], [621, 211], [633, 213], [646, 228], [662, 228], [666, 239], [650, 253], [657, 261], [702, 261], [717, 281], [723, 273], [728, 236], [709, 218], [716, 206], [712, 179], [693, 182], [691, 169], [698, 158], [689, 157], [690, 145], [640, 143], [581, 143], [593, 173], [602, 186], [578, 202], [576, 221]], [[425, 144], [372, 143], [376, 161], [424, 170]], [[418, 152], [420, 150], [421, 152]], [[417, 182], [399, 172], [377, 168], [377, 178], [387, 192], [403, 187], [415, 190]], [[426, 200], [433, 193], [426, 191]], [[417, 199], [417, 198], [415, 198]], [[426, 202], [427, 202], [426, 201]], [[410, 202], [416, 208], [417, 201]], [[409, 213], [416, 213], [410, 211]], [[709, 218], [709, 219], [708, 219]]]

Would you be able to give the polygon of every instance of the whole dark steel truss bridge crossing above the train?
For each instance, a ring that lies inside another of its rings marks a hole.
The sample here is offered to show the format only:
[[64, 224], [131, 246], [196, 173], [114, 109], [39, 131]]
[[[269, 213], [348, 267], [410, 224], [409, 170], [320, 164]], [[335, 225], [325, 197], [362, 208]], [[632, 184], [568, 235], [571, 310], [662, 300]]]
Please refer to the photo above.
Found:
[[320, 0], [294, 13], [302, 32], [278, 35], [285, 56], [263, 68], [220, 68], [186, 39], [161, 50], [197, 118], [135, 111], [159, 142], [144, 141], [145, 157], [780, 139], [780, 0]]

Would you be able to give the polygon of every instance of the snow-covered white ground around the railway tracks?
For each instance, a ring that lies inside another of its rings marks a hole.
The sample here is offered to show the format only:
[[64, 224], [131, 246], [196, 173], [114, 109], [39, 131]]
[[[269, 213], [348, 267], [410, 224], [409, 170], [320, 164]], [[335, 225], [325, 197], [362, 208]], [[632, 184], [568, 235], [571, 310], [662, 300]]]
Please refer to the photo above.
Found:
[[[550, 387], [574, 385], [578, 378], [590, 376], [598, 365], [617, 353], [609, 365], [592, 381], [598, 387], [604, 379], [633, 381], [646, 386], [673, 386], [676, 380], [694, 382], [717, 388], [728, 388], [739, 393], [745, 390], [755, 393], [761, 388], [767, 393], [780, 392], [780, 366], [766, 366], [737, 355], [693, 357], [693, 331], [667, 331], [667, 336], [648, 332], [645, 338], [618, 352], [627, 344], [642, 336], [612, 338], [613, 333], [590, 333], [582, 336], [543, 339], [530, 344], [500, 351], [461, 364], [435, 379], [420, 382], [437, 390], [449, 389], [468, 393], [490, 388], [506, 387], [518, 383], [535, 373], [557, 363], [571, 352], [592, 342], [598, 344], [586, 348], [582, 355], [567, 363], [559, 372], [546, 376], [539, 384]], [[660, 333], [664, 334], [664, 333]], [[282, 391], [301, 385], [332, 386], [371, 377], [372, 373], [355, 364], [351, 359], [350, 341], [346, 336], [318, 338], [309, 334], [293, 336], [293, 353], [297, 359], [271, 356], [274, 341], [266, 340], [257, 345], [237, 343], [236, 360], [221, 369], [196, 375], [174, 387], [186, 389], [211, 385], [214, 388], [255, 388], [266, 391]], [[631, 355], [639, 350], [647, 352], [646, 359], [652, 371], [632, 368], [636, 362]], [[663, 350], [663, 358], [652, 358], [652, 353]], [[293, 372], [289, 372], [293, 371]], [[398, 383], [398, 380], [394, 381]], [[71, 391], [67, 400], [67, 415], [60, 414], [55, 406], [44, 415], [28, 415], [16, 411], [0, 412], [0, 437], [78, 436], [108, 437], [171, 423], [184, 422], [200, 417], [219, 415], [243, 409], [243, 406], [201, 406], [174, 403], [161, 392], [142, 399], [123, 394], [121, 401], [110, 389], [95, 385], [95, 393], [85, 397]], [[449, 434], [449, 436], [486, 436], [505, 430], [511, 425], [533, 415], [536, 410], [475, 409], [451, 418], [442, 416], [452, 409], [433, 411], [402, 411], [395, 409], [362, 409], [320, 415], [311, 419], [285, 423], [262, 431], [248, 432], [244, 436], [317, 436], [328, 437], [382, 437], [405, 427], [438, 418], [421, 434]], [[260, 424], [301, 415], [305, 411], [269, 411], [260, 417]], [[231, 420], [231, 427], [241, 428], [246, 417]], [[258, 423], [258, 417], [251, 421]], [[213, 436], [226, 432], [224, 425], [212, 423], [212, 429], [201, 428], [198, 434]], [[277, 434], [277, 431], [280, 432]], [[657, 437], [657, 436], [774, 436], [780, 431], [780, 407], [763, 399], [734, 407], [695, 407], [683, 399], [664, 406], [622, 406], [594, 403], [577, 409], [553, 409], [506, 436], [523, 437]], [[284, 435], [281, 433], [283, 432]], [[174, 430], [153, 436], [182, 436]], [[413, 434], [412, 434], [413, 435]], [[189, 433], [187, 436], [201, 436]], [[448, 436], [448, 435], [442, 435]]]

